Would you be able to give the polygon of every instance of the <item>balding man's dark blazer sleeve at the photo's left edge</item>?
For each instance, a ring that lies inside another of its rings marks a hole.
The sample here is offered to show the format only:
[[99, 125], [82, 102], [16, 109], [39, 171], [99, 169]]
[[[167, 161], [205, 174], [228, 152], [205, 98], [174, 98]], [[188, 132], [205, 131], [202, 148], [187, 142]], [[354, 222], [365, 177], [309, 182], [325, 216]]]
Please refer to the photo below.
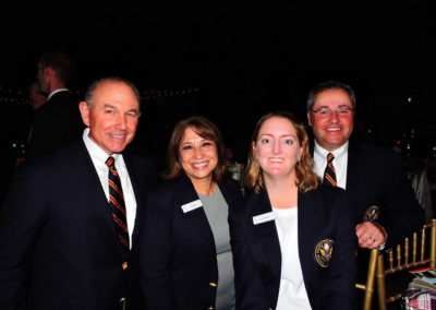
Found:
[[45, 177], [27, 163], [15, 174], [0, 217], [0, 309], [25, 309], [26, 278], [45, 222]]

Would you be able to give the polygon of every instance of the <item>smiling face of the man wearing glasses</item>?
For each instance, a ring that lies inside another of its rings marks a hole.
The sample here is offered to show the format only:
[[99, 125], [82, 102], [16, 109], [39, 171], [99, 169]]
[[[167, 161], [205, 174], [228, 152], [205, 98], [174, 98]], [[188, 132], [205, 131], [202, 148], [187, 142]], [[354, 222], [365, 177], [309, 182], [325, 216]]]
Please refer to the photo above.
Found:
[[353, 108], [350, 96], [343, 90], [331, 88], [317, 94], [313, 106], [313, 110], [331, 109], [331, 115], [320, 116], [312, 111], [307, 114], [316, 142], [327, 151], [331, 152], [342, 146], [353, 132], [353, 114], [337, 114], [338, 109], [344, 107]]

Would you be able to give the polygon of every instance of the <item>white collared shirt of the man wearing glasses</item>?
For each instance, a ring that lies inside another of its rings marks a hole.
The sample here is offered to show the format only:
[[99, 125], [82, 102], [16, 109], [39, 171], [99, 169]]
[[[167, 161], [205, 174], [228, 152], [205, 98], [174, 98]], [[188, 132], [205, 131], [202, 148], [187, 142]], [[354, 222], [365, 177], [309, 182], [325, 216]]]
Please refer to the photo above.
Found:
[[334, 152], [329, 152], [320, 147], [315, 141], [314, 147], [315, 174], [318, 175], [318, 177], [323, 180], [324, 171], [327, 167], [327, 154], [332, 153], [335, 155], [332, 165], [336, 172], [336, 182], [338, 183], [338, 187], [342, 189], [346, 189], [347, 186], [348, 145], [349, 142], [347, 141], [341, 147], [335, 150]]

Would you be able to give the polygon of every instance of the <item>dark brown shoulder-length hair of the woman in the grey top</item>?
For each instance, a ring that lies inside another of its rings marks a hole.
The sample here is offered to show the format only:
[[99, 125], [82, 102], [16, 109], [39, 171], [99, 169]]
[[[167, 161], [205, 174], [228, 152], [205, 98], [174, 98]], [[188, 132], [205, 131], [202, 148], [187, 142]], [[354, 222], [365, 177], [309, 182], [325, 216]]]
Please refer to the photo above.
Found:
[[187, 128], [192, 128], [196, 134], [211, 140], [216, 144], [218, 164], [214, 169], [213, 180], [222, 182], [230, 166], [230, 152], [225, 146], [219, 129], [210, 120], [201, 116], [180, 120], [174, 126], [167, 150], [167, 169], [164, 171], [162, 177], [165, 179], [173, 179], [183, 175], [183, 168], [179, 163], [179, 148]]

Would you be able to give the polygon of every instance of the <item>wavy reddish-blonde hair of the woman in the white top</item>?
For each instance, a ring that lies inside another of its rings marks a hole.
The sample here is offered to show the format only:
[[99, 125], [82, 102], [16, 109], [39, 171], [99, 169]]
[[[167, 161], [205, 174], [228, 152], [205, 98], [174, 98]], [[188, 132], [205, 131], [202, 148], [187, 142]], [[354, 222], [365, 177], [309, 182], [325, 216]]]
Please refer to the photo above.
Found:
[[264, 122], [270, 118], [283, 118], [289, 120], [296, 131], [296, 138], [299, 139], [300, 145], [303, 145], [303, 152], [300, 156], [300, 162], [295, 166], [296, 186], [300, 191], [307, 192], [316, 189], [320, 184], [319, 177], [313, 171], [313, 159], [310, 153], [310, 143], [307, 133], [304, 130], [303, 124], [300, 120], [288, 111], [277, 110], [270, 111], [264, 115], [256, 123], [252, 139], [250, 141], [249, 160], [245, 171], [245, 186], [249, 189], [254, 190], [256, 193], [259, 192], [261, 188], [265, 187], [264, 176], [262, 168], [256, 159], [253, 144], [256, 144], [257, 136]]

